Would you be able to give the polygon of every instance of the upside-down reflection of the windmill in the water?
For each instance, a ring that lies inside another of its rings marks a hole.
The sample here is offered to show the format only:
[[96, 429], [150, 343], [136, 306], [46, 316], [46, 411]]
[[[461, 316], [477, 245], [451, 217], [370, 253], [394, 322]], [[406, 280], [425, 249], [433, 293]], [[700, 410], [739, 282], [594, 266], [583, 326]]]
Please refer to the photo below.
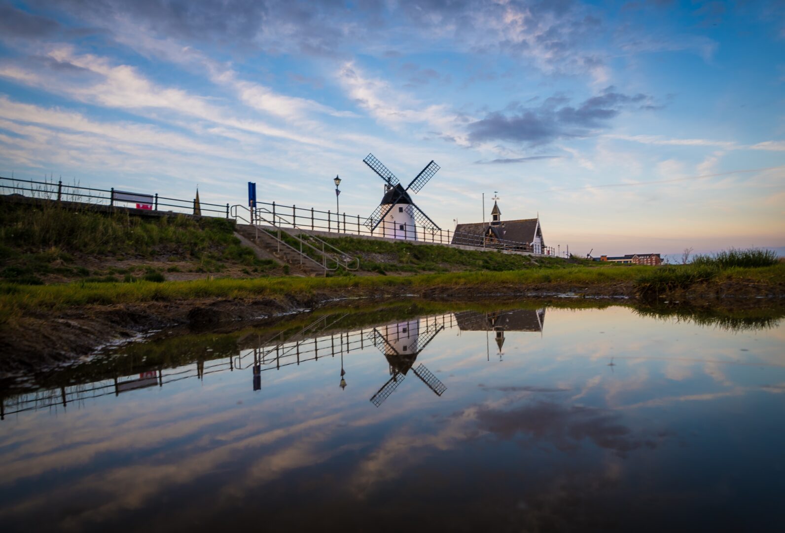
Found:
[[390, 371], [387, 383], [371, 396], [371, 403], [374, 406], [382, 405], [385, 399], [398, 388], [410, 369], [437, 396], [441, 396], [447, 390], [447, 386], [422, 363], [417, 368], [412, 368], [417, 356], [442, 329], [444, 329], [444, 323], [434, 320], [433, 322], [426, 321], [425, 327], [421, 330], [420, 321], [413, 320], [374, 328], [368, 334], [368, 340], [371, 340], [374, 346], [385, 355], [387, 362], [389, 362]]

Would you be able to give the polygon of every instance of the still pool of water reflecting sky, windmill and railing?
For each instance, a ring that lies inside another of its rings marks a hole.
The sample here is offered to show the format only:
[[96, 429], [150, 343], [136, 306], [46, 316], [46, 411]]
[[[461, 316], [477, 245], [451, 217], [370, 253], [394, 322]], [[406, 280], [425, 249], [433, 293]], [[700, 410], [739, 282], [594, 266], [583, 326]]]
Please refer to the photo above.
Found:
[[778, 317], [524, 307], [162, 332], [5, 379], [0, 529], [785, 531]]

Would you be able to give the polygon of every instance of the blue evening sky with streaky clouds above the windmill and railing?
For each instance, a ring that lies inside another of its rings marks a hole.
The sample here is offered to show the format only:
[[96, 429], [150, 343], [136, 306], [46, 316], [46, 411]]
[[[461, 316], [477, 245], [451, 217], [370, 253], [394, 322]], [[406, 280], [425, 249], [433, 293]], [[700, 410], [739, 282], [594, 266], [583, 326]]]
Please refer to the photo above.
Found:
[[[571, 252], [785, 246], [782, 2], [0, 3], [0, 175], [440, 226]], [[490, 211], [490, 204], [487, 212]]]

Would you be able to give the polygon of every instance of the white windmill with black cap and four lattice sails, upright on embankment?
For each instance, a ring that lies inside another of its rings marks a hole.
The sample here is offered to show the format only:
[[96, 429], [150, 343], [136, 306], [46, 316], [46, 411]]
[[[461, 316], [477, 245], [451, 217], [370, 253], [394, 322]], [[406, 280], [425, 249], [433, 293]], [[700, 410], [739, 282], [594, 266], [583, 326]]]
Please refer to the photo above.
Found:
[[409, 196], [410, 190], [413, 190], [414, 193], [420, 192], [420, 189], [439, 171], [439, 165], [432, 160], [411, 180], [406, 189], [403, 189], [398, 178], [380, 160], [376, 159], [374, 154], [369, 153], [363, 159], [363, 163], [371, 167], [371, 170], [376, 172], [379, 178], [385, 182], [385, 195], [382, 197], [382, 203], [365, 222], [371, 233], [381, 224], [383, 237], [416, 241], [416, 226], [422, 226], [431, 233], [440, 230], [440, 227], [436, 226], [436, 222], [425, 215]]

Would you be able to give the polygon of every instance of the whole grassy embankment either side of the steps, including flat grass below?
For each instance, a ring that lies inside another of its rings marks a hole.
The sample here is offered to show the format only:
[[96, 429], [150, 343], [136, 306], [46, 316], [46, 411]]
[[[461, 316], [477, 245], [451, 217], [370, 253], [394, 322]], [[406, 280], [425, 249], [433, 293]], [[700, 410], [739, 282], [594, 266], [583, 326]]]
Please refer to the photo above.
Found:
[[[4, 280], [0, 281], [0, 322], [41, 309], [206, 298], [294, 296], [305, 300], [310, 296], [372, 292], [449, 296], [451, 292], [512, 293], [531, 288], [592, 293], [593, 288], [622, 287], [617, 293], [656, 299], [698, 285], [719, 288], [736, 283], [778, 294], [785, 285], [785, 265], [778, 262], [773, 252], [758, 250], [732, 250], [711, 257], [698, 256], [690, 265], [652, 267], [598, 265], [582, 260], [568, 263], [557, 258], [349, 237], [330, 241], [347, 253], [363, 257], [364, 268], [380, 273], [469, 271], [327, 279], [261, 278], [275, 267], [256, 259], [250, 248], [239, 244], [232, 235], [232, 222], [227, 220], [140, 219], [57, 207], [22, 209], [4, 205], [0, 208], [0, 278]], [[92, 269], [84, 266], [90, 261], [95, 265]], [[121, 267], [112, 263], [134, 264]], [[169, 263], [172, 266], [162, 266]], [[235, 278], [155, 282], [162, 281], [165, 274], [173, 277], [172, 272], [181, 270], [178, 265], [190, 270], [223, 270]], [[238, 272], [246, 278], [237, 278]], [[58, 277], [79, 281], [34, 285], [57, 281]]]

